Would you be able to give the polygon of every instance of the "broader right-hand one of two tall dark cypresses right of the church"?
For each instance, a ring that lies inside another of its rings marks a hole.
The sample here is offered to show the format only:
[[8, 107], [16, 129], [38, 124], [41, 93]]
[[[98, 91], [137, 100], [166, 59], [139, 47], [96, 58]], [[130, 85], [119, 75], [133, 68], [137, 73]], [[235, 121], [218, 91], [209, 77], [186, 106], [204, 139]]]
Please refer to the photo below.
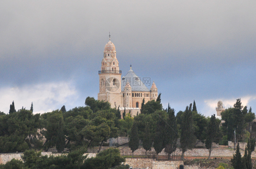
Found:
[[192, 103], [189, 108], [186, 107], [185, 112], [182, 113], [181, 121], [181, 135], [180, 135], [180, 148], [182, 150], [181, 159], [184, 160], [184, 153], [187, 149], [192, 149], [194, 147], [196, 137], [194, 135], [193, 127], [193, 114], [192, 114]]

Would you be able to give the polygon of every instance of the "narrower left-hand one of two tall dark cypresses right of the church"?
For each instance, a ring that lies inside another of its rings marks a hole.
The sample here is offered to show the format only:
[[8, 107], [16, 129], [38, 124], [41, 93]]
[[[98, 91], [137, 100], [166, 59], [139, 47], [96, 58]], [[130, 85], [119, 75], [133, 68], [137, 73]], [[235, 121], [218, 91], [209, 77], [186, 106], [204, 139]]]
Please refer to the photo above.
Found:
[[168, 160], [170, 160], [170, 155], [173, 153], [177, 148], [177, 138], [178, 138], [178, 130], [177, 130], [177, 123], [176, 118], [174, 115], [174, 109], [168, 104], [167, 114], [168, 119], [165, 128], [165, 135], [164, 135], [164, 145], [165, 145], [165, 152], [168, 153]]

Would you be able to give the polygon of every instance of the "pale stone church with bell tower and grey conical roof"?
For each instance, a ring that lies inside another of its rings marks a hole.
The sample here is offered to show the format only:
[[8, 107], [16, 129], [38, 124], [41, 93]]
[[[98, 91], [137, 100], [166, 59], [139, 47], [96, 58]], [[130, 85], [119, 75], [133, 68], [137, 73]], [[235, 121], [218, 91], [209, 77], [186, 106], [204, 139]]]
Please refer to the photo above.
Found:
[[[150, 83], [150, 78], [141, 79], [132, 70], [121, 78], [122, 71], [119, 70], [119, 62], [116, 57], [115, 45], [110, 41], [105, 45], [99, 70], [99, 93], [98, 100], [108, 101], [112, 108], [118, 107], [126, 113], [131, 110], [131, 115], [140, 113], [143, 98], [145, 103], [156, 100], [158, 93], [153, 81], [151, 88], [147, 88], [144, 80]], [[143, 83], [144, 82], [144, 83]]]

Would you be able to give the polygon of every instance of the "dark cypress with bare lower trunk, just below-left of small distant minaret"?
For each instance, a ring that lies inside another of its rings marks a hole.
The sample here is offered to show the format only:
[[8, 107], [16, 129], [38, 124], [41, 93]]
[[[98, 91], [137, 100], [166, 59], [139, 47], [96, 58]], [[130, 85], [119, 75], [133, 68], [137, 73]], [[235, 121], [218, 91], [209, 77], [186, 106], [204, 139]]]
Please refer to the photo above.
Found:
[[213, 142], [218, 143], [219, 140], [219, 123], [215, 118], [215, 114], [211, 116], [210, 121], [207, 124], [206, 129], [206, 141], [205, 147], [209, 150], [209, 157], [208, 160], [211, 158], [211, 152], [213, 149]]

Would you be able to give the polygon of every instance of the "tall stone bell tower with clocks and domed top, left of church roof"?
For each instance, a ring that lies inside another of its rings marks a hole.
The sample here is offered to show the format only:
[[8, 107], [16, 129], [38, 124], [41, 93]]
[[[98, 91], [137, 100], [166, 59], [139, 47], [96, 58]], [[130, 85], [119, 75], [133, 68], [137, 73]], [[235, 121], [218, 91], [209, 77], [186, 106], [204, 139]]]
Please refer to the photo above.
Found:
[[99, 70], [99, 93], [98, 100], [108, 101], [111, 107], [122, 106], [121, 100], [121, 74], [119, 62], [116, 58], [115, 45], [109, 41], [105, 45]]

